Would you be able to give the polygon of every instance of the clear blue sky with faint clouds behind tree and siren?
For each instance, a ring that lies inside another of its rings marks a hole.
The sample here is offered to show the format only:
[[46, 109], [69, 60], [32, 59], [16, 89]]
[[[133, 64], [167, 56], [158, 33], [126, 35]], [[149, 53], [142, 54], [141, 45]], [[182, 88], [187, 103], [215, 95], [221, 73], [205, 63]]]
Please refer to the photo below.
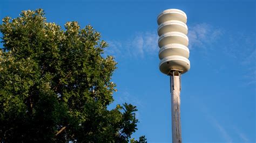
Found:
[[183, 142], [255, 142], [255, 1], [0, 2], [0, 18], [45, 10], [48, 22], [92, 25], [118, 62], [116, 104], [132, 103], [140, 121], [134, 138], [171, 142], [170, 78], [158, 69], [157, 16], [187, 14], [191, 69], [182, 76]]

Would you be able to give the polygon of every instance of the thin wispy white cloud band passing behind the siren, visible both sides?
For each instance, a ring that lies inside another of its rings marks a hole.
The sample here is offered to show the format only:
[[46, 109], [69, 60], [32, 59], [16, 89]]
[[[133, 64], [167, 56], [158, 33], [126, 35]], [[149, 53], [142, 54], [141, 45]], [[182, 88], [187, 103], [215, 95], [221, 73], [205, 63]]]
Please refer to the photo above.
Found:
[[[201, 23], [194, 24], [189, 27], [188, 48], [205, 49], [207, 52], [209, 45], [217, 42], [223, 32], [214, 28], [210, 24]], [[124, 41], [108, 40], [109, 47], [106, 48], [106, 54], [114, 55], [116, 57], [132, 56], [137, 58], [144, 58], [145, 55], [152, 55], [158, 52], [158, 34], [157, 31], [137, 32], [131, 35], [130, 38]]]

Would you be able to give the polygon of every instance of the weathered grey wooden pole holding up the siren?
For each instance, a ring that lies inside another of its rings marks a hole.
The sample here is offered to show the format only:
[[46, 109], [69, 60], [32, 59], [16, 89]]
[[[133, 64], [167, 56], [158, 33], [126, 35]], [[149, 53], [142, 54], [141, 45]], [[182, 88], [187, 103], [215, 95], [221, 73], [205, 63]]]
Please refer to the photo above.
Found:
[[172, 142], [181, 143], [180, 125], [180, 75], [174, 74], [171, 77], [171, 106], [172, 106]]

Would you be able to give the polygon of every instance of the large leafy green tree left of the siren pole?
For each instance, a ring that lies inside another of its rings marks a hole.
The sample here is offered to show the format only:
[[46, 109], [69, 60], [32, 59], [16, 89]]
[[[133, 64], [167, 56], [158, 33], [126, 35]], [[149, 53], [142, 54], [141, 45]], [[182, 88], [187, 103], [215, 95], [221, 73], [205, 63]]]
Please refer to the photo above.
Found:
[[68, 22], [62, 30], [37, 9], [5, 17], [0, 31], [0, 142], [131, 139], [136, 106], [107, 110], [117, 63], [103, 58], [107, 44], [92, 26]]

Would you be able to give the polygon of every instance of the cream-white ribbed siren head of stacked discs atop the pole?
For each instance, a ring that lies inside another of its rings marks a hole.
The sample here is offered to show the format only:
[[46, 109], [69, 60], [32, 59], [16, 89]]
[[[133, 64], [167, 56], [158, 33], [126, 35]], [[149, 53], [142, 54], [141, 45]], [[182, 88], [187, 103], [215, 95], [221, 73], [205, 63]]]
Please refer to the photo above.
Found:
[[190, 69], [186, 22], [186, 13], [178, 9], [164, 10], [157, 17], [159, 69], [164, 74], [169, 74], [171, 69], [184, 74]]

